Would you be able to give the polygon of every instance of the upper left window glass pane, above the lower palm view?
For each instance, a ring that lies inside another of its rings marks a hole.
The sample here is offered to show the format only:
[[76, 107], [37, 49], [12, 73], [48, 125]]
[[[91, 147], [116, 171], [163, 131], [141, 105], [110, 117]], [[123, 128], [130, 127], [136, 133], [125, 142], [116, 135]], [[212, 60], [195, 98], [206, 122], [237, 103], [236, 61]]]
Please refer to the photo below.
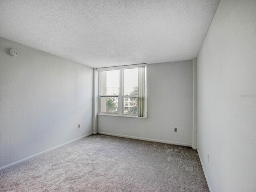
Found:
[[101, 72], [101, 94], [119, 95], [119, 70]]

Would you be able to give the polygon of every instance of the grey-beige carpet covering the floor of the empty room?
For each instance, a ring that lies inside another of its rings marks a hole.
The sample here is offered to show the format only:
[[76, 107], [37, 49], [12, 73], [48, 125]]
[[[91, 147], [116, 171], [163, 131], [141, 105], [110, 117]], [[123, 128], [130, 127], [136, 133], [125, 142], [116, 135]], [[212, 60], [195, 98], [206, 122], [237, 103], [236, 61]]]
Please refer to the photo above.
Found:
[[92, 135], [0, 172], [1, 192], [208, 192], [196, 150]]

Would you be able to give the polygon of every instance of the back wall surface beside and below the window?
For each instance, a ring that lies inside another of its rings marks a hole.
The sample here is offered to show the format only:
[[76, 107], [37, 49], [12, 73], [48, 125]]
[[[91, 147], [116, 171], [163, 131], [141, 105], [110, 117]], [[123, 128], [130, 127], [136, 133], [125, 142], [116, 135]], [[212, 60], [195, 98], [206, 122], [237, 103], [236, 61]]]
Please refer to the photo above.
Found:
[[192, 60], [147, 68], [148, 118], [98, 115], [98, 132], [192, 146]]

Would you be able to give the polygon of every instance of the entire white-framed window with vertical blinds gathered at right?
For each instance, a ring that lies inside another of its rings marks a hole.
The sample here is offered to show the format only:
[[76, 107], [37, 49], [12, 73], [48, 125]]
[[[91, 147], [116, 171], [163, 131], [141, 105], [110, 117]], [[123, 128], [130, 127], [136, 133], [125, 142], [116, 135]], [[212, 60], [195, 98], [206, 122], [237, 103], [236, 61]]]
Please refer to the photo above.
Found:
[[100, 114], [146, 117], [146, 64], [96, 70]]

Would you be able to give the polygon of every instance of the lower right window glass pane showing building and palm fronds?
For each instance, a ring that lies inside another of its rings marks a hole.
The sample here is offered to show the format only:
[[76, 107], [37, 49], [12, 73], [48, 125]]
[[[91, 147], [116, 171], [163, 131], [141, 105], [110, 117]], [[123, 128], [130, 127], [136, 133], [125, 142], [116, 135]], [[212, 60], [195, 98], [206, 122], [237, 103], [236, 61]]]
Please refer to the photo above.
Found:
[[125, 97], [123, 108], [125, 115], [138, 115], [138, 97]]

